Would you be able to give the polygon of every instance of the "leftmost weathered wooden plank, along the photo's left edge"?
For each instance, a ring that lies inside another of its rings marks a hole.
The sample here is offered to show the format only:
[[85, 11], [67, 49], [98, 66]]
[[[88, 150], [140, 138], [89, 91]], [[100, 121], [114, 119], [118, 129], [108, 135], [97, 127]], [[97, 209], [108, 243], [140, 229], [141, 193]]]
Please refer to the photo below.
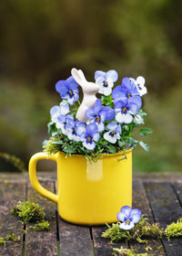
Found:
[[19, 200], [25, 200], [25, 185], [0, 184], [0, 237], [5, 238], [7, 234], [15, 233], [16, 237], [21, 238], [18, 243], [6, 241], [5, 247], [0, 245], [1, 256], [22, 255], [24, 227], [11, 213], [11, 208], [15, 207]]

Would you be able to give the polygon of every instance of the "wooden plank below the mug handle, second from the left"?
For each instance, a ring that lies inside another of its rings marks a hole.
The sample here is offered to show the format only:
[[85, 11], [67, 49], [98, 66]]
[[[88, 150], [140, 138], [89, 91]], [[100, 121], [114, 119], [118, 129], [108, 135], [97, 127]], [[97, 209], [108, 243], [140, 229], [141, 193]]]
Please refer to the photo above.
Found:
[[[54, 183], [47, 181], [41, 182], [43, 187], [50, 191], [54, 191]], [[40, 255], [57, 255], [57, 240], [56, 240], [56, 204], [52, 201], [38, 195], [35, 190], [28, 185], [27, 199], [34, 198], [35, 203], [40, 207], [45, 208], [45, 220], [50, 222], [49, 231], [36, 231], [27, 229], [33, 224], [26, 225], [25, 235], [25, 255], [40, 256]]]

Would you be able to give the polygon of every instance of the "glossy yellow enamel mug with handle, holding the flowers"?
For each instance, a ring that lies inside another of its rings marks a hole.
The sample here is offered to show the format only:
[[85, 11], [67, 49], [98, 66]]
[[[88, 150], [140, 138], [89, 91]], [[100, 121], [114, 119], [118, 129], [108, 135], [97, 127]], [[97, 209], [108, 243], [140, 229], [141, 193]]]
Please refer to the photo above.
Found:
[[[57, 195], [42, 187], [36, 177], [36, 162], [56, 161]], [[62, 219], [82, 225], [116, 222], [123, 206], [132, 205], [132, 149], [102, 155], [97, 162], [83, 155], [37, 153], [29, 162], [29, 176], [35, 191], [58, 206]]]

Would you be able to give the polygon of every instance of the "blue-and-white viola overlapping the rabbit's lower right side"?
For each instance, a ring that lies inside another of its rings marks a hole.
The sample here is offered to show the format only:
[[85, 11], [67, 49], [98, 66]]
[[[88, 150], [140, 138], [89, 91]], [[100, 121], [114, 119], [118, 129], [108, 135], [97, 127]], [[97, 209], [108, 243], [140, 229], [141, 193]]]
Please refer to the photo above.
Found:
[[103, 132], [105, 130], [104, 122], [113, 120], [115, 118], [115, 111], [110, 107], [102, 107], [101, 101], [97, 99], [94, 108], [86, 111], [86, 118], [96, 123], [98, 132]]

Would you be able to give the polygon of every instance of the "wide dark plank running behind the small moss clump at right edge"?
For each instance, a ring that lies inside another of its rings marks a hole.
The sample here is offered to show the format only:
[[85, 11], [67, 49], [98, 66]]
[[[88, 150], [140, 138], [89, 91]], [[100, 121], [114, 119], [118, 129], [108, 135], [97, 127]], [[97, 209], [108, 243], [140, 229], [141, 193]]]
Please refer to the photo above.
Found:
[[[177, 196], [168, 183], [146, 183], [147, 197], [149, 198], [154, 218], [166, 228], [168, 224], [181, 218], [182, 208], [177, 200]], [[182, 254], [182, 239], [162, 240], [167, 255]]]

